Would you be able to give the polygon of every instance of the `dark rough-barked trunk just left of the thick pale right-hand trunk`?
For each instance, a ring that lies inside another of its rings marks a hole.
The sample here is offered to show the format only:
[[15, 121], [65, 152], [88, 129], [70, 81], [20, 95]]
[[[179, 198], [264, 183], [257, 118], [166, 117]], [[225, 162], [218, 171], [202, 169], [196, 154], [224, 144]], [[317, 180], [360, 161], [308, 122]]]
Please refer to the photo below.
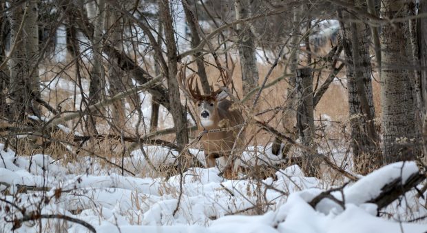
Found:
[[[364, 6], [358, 0], [360, 6]], [[366, 6], [364, 6], [366, 7]], [[355, 171], [367, 174], [381, 164], [375, 132], [371, 59], [368, 49], [369, 27], [364, 23], [344, 23], [348, 14], [338, 12], [346, 62], [351, 146]], [[355, 52], [353, 54], [353, 52]], [[357, 68], [357, 70], [356, 70]]]

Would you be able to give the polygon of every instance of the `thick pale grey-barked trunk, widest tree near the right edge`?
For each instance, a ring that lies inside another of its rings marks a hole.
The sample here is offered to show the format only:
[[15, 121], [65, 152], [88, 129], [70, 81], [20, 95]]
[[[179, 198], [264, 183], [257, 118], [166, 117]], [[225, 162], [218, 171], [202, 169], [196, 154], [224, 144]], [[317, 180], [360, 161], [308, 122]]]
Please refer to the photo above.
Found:
[[[405, 17], [402, 1], [382, 1], [382, 15], [387, 19]], [[386, 163], [415, 159], [419, 153], [410, 142], [418, 137], [415, 109], [408, 72], [402, 68], [406, 48], [402, 28], [404, 23], [382, 28], [382, 128], [383, 159]]]

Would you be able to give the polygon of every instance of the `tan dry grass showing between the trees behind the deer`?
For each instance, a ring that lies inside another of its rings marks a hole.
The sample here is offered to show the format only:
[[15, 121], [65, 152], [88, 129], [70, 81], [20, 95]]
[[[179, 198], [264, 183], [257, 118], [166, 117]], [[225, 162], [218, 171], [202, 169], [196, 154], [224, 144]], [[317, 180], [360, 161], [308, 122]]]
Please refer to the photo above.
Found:
[[[193, 67], [194, 68], [194, 67]], [[210, 83], [216, 83], [219, 73], [218, 70], [213, 67], [212, 65], [207, 65], [207, 74], [209, 77]], [[262, 84], [262, 81], [264, 81], [264, 77], [267, 75], [267, 72], [271, 68], [270, 65], [264, 65], [264, 64], [258, 64], [258, 70], [259, 70], [259, 84]], [[281, 77], [283, 74], [283, 67], [281, 65], [278, 65], [273, 72], [271, 72], [271, 75], [269, 77], [269, 82], [277, 79], [278, 77]], [[65, 81], [68, 83], [68, 85], [74, 85], [76, 83], [75, 77], [75, 67], [74, 65], [67, 65], [66, 68], [61, 67], [60, 65], [45, 65], [44, 67], [45, 72], [41, 76], [41, 79], [45, 85], [49, 85], [49, 88], [45, 88], [45, 91], [43, 92], [43, 99], [48, 101], [50, 105], [52, 106], [61, 106], [61, 110], [76, 110], [76, 103], [80, 103], [81, 101], [81, 93], [80, 88], [76, 87], [75, 91], [72, 88], [61, 88], [57, 83], [60, 83], [62, 81]], [[326, 79], [327, 75], [329, 74], [329, 70], [324, 70], [322, 72], [322, 75], [320, 76], [320, 83], [319, 86], [322, 84], [322, 82]], [[376, 75], [376, 74], [375, 74]], [[88, 77], [87, 72], [82, 71], [83, 77]], [[317, 77], [317, 73], [315, 73], [315, 77]], [[319, 134], [328, 134], [329, 139], [336, 139], [336, 141], [339, 141], [340, 139], [345, 139], [345, 135], [343, 136], [343, 133], [348, 133], [343, 131], [343, 128], [345, 128], [345, 125], [347, 124], [348, 119], [348, 99], [347, 99], [347, 93], [345, 89], [345, 70], [342, 70], [337, 77], [340, 77], [342, 79], [342, 82], [340, 81], [334, 81], [329, 89], [326, 91], [324, 96], [322, 97], [321, 101], [317, 104], [317, 107], [315, 108], [315, 119], [324, 119], [324, 115], [330, 117], [331, 121], [334, 121], [336, 123], [329, 124], [329, 129], [326, 130], [327, 132], [319, 132]], [[378, 77], [375, 76], [375, 79], [378, 80]], [[52, 83], [50, 83], [52, 82]], [[84, 86], [83, 89], [87, 91], [87, 80], [83, 80]], [[267, 83], [269, 83], [267, 82]], [[50, 84], [49, 84], [50, 83]], [[56, 83], [56, 84], [55, 84]], [[315, 84], [315, 83], [314, 83]], [[63, 86], [63, 85], [62, 85]], [[234, 70], [233, 75], [233, 87], [237, 91], [238, 97], [242, 98], [242, 83], [241, 83], [241, 70], [240, 70], [240, 63], [236, 62], [236, 68]], [[267, 110], [272, 110], [273, 108], [276, 108], [278, 106], [283, 106], [284, 103], [287, 101], [287, 81], [282, 80], [278, 83], [275, 83], [270, 88], [264, 89], [260, 95], [260, 100], [258, 101], [258, 105], [256, 106], [256, 112], [264, 112]], [[373, 81], [373, 90], [374, 90], [374, 103], [375, 103], [375, 109], [376, 116], [379, 116], [381, 114], [381, 109], [379, 105], [379, 83], [377, 81]], [[129, 100], [128, 100], [129, 101]], [[145, 99], [144, 101], [147, 101]], [[184, 101], [184, 99], [183, 99]], [[129, 104], [132, 108], [132, 104]], [[98, 129], [101, 133], [116, 133], [111, 130], [110, 124], [114, 123], [114, 119], [110, 119], [111, 114], [108, 112], [109, 106], [105, 106], [103, 114], [107, 113], [107, 118], [101, 119], [96, 118], [96, 121], [98, 123]], [[78, 105], [77, 105], [78, 110]], [[126, 135], [132, 136], [134, 135], [135, 128], [134, 125], [136, 124], [136, 114], [134, 112], [134, 109], [128, 109], [129, 113], [133, 113], [133, 117], [130, 117], [123, 125], [123, 127], [118, 127], [120, 129], [123, 129], [125, 131]], [[49, 117], [52, 117], [53, 115], [50, 114]], [[277, 128], [279, 131], [284, 132], [284, 128], [282, 125], [282, 112], [274, 112], [270, 111], [265, 114], [260, 115], [260, 119], [264, 121], [269, 121], [270, 125], [273, 125], [273, 127]], [[149, 117], [149, 116], [145, 116]], [[159, 116], [159, 123], [158, 123], [158, 129], [164, 129], [168, 128], [169, 123], [165, 123], [166, 121], [162, 121], [162, 119], [169, 118], [170, 122], [170, 114], [163, 114]], [[75, 121], [72, 121], [68, 126], [70, 128], [74, 128], [74, 125], [77, 125], [75, 128], [77, 131], [86, 134], [84, 125], [81, 124], [82, 121], [79, 121], [81, 119], [76, 119]], [[287, 121], [285, 119], [284, 121]], [[344, 125], [344, 126], [343, 126]], [[317, 123], [318, 126], [318, 123]], [[141, 127], [140, 128], [140, 134], [143, 135], [146, 133], [147, 128]], [[192, 136], [195, 136], [194, 133], [191, 134]], [[343, 137], [342, 137], [343, 136]], [[273, 140], [273, 137], [271, 134], [268, 134], [262, 130], [259, 130], [256, 127], [249, 126], [246, 130], [246, 137], [247, 139], [251, 139], [249, 141], [249, 145], [267, 145], [268, 143], [271, 143]], [[44, 149], [41, 148], [34, 148], [32, 144], [41, 145], [42, 142], [35, 142], [34, 140], [21, 140], [21, 145], [19, 145], [19, 153], [22, 154], [34, 154], [34, 153], [45, 153], [45, 154], [51, 154], [54, 158], [61, 159], [64, 158], [65, 154], [70, 154], [69, 151], [65, 149], [67, 145], [72, 145], [73, 150], [77, 150], [79, 148], [79, 142], [73, 142], [70, 135], [64, 134], [62, 131], [59, 132], [52, 132], [50, 135], [50, 138], [56, 139], [53, 143], [48, 143], [48, 146]], [[167, 141], [174, 141], [175, 136], [174, 134], [169, 134], [166, 136], [161, 136], [161, 139], [165, 139]], [[317, 143], [324, 145], [326, 142], [322, 141], [322, 138], [317, 139]], [[338, 145], [340, 144], [340, 145]], [[337, 145], [333, 146], [339, 146], [341, 148], [348, 147], [348, 143], [337, 143]], [[126, 143], [126, 147], [129, 147], [129, 143]], [[84, 143], [82, 145], [83, 150], [80, 150], [79, 156], [85, 156], [85, 155], [91, 155], [97, 154], [98, 156], [103, 156], [106, 159], [112, 160], [118, 157], [121, 157], [123, 155], [123, 145], [121, 145], [121, 141], [118, 139], [108, 139], [103, 141], [89, 141], [87, 143]], [[296, 152], [293, 152], [296, 153]], [[128, 155], [128, 154], [126, 154]], [[67, 158], [74, 158], [74, 156], [67, 156]], [[64, 160], [65, 161], [65, 160]], [[107, 165], [107, 163], [105, 163]]]

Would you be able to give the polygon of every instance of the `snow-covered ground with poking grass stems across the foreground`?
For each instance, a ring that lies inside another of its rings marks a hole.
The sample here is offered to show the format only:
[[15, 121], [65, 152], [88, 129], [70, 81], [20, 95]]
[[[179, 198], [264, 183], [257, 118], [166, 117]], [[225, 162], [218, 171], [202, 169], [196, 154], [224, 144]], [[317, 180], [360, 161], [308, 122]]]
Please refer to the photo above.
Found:
[[[170, 159], [165, 148], [145, 150], [158, 156], [154, 163]], [[34, 210], [80, 219], [96, 232], [427, 232], [425, 219], [404, 223], [427, 214], [426, 201], [415, 192], [388, 207], [388, 218], [377, 217], [376, 206], [364, 203], [384, 183], [417, 172], [413, 162], [388, 165], [331, 193], [339, 200], [344, 196], [345, 210], [325, 199], [315, 210], [309, 202], [324, 191], [325, 182], [304, 177], [297, 165], [277, 172], [275, 180], [226, 180], [217, 168], [191, 168], [183, 177], [165, 179], [121, 175], [91, 158], [64, 165], [48, 155], [15, 156], [2, 144], [0, 154], [0, 188], [8, 188], [0, 197], [1, 232], [10, 232], [18, 226], [15, 219]], [[127, 167], [146, 165], [140, 151], [132, 155]], [[22, 185], [28, 186], [26, 193]], [[49, 189], [36, 192], [34, 186]], [[45, 232], [89, 231], [59, 219], [25, 221], [16, 231], [39, 232], [40, 223]]]

